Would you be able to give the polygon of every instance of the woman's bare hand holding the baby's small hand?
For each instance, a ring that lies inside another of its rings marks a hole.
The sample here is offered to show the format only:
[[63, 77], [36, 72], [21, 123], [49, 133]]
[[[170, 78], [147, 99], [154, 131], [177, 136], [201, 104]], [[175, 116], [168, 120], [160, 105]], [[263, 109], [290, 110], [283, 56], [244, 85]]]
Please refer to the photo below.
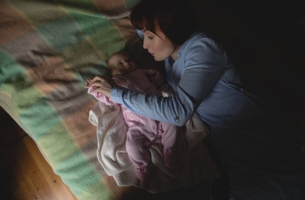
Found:
[[[88, 84], [87, 84], [88, 81]], [[96, 86], [96, 88], [93, 90], [93, 92], [101, 92], [106, 97], [110, 98], [111, 90], [114, 86], [114, 83], [111, 79], [101, 76], [96, 76], [93, 79], [88, 79], [86, 81], [86, 88], [90, 86]]]

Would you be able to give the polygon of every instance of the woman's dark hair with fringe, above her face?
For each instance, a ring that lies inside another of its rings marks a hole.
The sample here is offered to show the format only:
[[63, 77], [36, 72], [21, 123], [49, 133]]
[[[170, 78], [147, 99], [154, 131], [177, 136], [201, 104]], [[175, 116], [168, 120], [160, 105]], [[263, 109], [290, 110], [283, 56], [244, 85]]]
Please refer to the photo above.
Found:
[[132, 25], [156, 34], [159, 29], [175, 45], [182, 45], [195, 31], [187, 0], [142, 0], [130, 14]]

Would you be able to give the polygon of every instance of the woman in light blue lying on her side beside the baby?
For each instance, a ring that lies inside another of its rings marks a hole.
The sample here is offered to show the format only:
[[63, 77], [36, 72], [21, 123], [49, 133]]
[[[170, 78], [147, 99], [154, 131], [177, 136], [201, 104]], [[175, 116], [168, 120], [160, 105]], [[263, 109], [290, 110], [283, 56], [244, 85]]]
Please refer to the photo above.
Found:
[[[130, 15], [133, 26], [142, 30], [143, 48], [155, 60], [164, 60], [166, 79], [175, 91], [172, 97], [113, 87], [101, 77], [92, 85], [135, 113], [178, 126], [196, 112], [209, 126], [207, 142], [228, 171], [232, 199], [304, 198], [302, 156], [281, 151], [284, 135], [273, 130], [258, 98], [243, 89], [224, 50], [195, 32], [188, 5], [143, 0]], [[278, 171], [285, 171], [285, 177]]]

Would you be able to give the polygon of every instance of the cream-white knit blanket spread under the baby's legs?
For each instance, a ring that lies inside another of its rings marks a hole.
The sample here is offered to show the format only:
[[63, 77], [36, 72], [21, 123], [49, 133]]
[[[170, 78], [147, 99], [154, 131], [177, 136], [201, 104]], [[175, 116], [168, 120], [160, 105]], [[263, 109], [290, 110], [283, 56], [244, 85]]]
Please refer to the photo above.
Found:
[[177, 146], [182, 174], [171, 172], [163, 162], [161, 139], [149, 146], [153, 164], [158, 168], [155, 179], [141, 187], [136, 175], [136, 166], [129, 159], [126, 149], [127, 125], [119, 105], [107, 106], [97, 102], [90, 110], [89, 121], [97, 126], [97, 157], [103, 169], [113, 176], [119, 186], [137, 186], [152, 193], [165, 192], [179, 187], [191, 187], [201, 181], [213, 181], [219, 174], [202, 140], [208, 129], [195, 115], [185, 127], [181, 127]]

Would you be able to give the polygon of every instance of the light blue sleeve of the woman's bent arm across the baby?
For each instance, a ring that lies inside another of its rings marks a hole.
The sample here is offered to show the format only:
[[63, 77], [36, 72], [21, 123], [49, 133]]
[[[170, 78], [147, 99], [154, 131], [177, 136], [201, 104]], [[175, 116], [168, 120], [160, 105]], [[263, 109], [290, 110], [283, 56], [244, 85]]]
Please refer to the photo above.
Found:
[[201, 39], [185, 51], [184, 63], [183, 75], [171, 97], [115, 87], [111, 98], [137, 114], [183, 126], [224, 74], [226, 55], [213, 40]]

